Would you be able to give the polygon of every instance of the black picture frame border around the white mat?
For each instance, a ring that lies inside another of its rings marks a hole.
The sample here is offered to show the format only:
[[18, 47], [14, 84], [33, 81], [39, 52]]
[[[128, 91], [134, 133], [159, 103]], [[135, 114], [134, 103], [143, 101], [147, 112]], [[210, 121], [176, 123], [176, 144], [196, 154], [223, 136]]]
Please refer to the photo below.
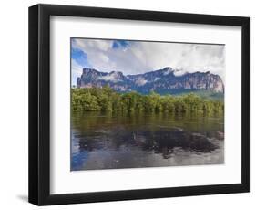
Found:
[[[241, 184], [217, 184], [79, 194], [50, 194], [50, 16], [241, 26]], [[250, 191], [250, 18], [114, 8], [29, 7], [29, 202], [65, 205]]]

